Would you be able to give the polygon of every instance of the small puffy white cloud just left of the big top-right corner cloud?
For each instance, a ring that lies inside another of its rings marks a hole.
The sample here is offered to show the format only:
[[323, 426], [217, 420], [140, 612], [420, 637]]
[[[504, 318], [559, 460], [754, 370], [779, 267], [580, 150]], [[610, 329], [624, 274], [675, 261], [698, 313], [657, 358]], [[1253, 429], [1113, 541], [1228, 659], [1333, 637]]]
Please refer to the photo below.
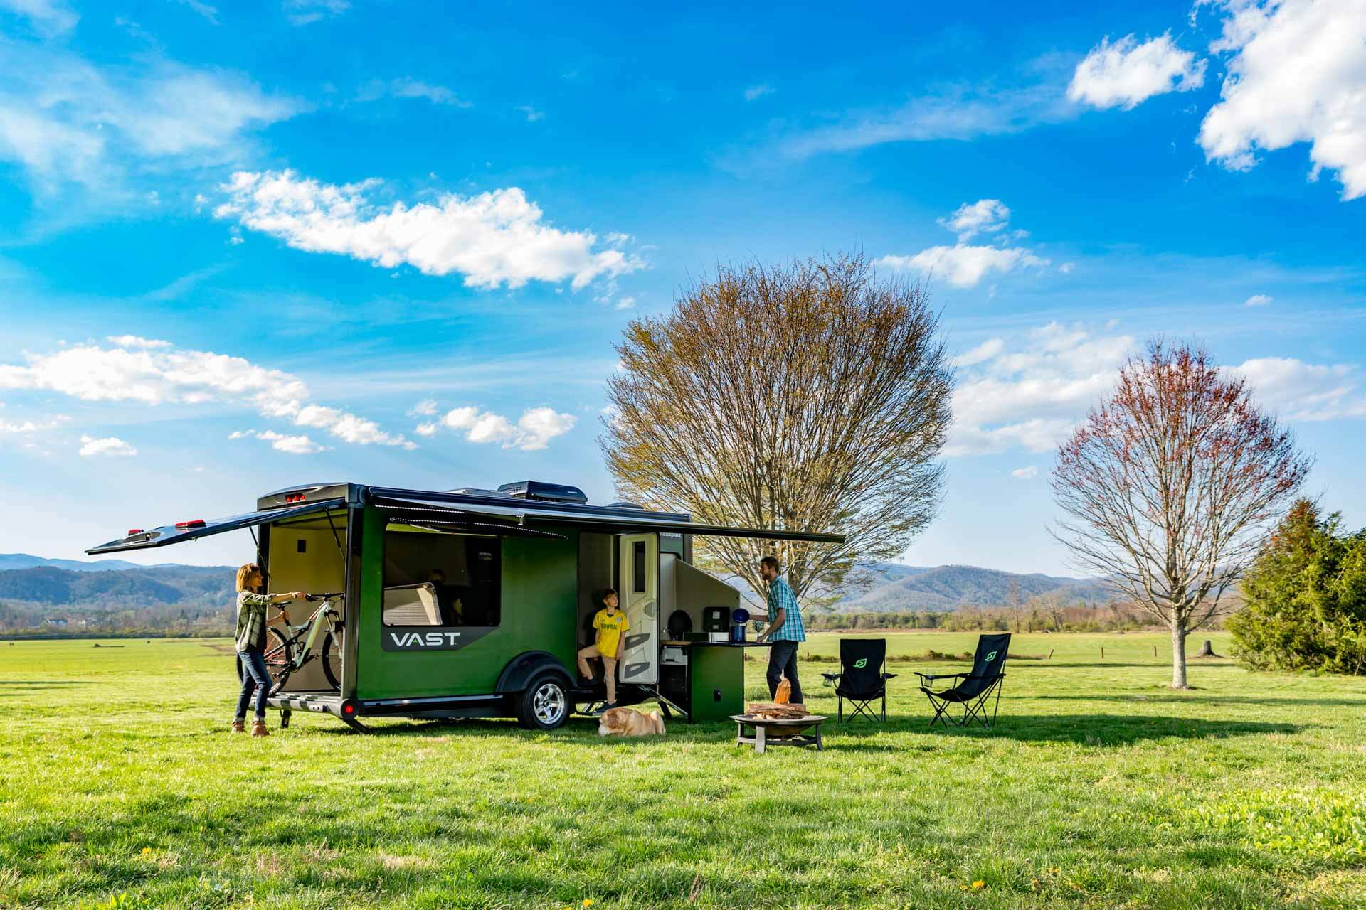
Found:
[[1139, 44], [1124, 35], [1109, 38], [1076, 64], [1067, 97], [1094, 108], [1131, 111], [1147, 98], [1168, 91], [1190, 91], [1205, 85], [1205, 61], [1182, 50], [1171, 33]]

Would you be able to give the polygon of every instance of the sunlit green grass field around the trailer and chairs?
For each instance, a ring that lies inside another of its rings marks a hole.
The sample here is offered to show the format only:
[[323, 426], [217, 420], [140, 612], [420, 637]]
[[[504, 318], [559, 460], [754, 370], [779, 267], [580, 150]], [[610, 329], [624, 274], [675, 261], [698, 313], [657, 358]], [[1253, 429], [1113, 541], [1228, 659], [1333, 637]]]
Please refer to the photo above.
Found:
[[0, 907], [1366, 906], [1366, 679], [1193, 660], [1176, 693], [1167, 636], [1018, 636], [990, 733], [928, 730], [911, 673], [949, 664], [893, 663], [885, 729], [762, 756], [585, 719], [251, 739], [216, 643], [101, 644], [0, 643]]

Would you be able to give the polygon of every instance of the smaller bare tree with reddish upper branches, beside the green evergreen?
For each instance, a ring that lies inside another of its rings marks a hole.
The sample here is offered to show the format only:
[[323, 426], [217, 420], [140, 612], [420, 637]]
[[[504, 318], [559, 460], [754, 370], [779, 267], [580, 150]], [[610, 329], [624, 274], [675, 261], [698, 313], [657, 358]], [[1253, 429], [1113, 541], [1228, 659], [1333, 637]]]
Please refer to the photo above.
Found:
[[1184, 689], [1186, 636], [1220, 615], [1311, 464], [1203, 348], [1153, 341], [1059, 449], [1055, 536], [1171, 628], [1172, 688]]

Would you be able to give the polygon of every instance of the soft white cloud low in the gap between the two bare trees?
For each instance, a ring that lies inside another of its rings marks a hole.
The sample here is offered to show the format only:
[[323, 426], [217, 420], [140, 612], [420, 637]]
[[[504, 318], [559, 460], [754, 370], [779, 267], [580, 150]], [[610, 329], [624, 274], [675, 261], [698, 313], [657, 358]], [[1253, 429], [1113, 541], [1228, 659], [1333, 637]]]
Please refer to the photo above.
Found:
[[1132, 348], [1130, 336], [1056, 322], [1003, 340], [990, 356], [963, 367], [944, 453], [1052, 450], [1111, 392]]

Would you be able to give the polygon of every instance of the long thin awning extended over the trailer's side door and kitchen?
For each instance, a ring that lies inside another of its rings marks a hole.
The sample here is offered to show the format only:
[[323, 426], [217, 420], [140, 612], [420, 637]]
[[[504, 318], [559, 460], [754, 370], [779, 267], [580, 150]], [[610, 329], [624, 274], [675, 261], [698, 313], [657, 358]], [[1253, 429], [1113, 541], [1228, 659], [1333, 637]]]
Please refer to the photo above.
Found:
[[844, 543], [841, 533], [818, 533], [814, 531], [775, 531], [762, 528], [734, 528], [728, 525], [698, 524], [673, 516], [645, 512], [643, 509], [608, 509], [608, 508], [578, 508], [566, 509], [550, 505], [518, 503], [493, 505], [488, 502], [460, 502], [455, 495], [451, 499], [428, 499], [418, 497], [380, 495], [376, 505], [388, 508], [455, 510], [471, 516], [486, 516], [504, 518], [522, 524], [523, 521], [564, 524], [579, 528], [600, 528], [612, 533], [632, 533], [663, 531], [668, 533], [691, 533], [712, 538], [755, 538], [761, 540], [809, 540], [816, 543]]

